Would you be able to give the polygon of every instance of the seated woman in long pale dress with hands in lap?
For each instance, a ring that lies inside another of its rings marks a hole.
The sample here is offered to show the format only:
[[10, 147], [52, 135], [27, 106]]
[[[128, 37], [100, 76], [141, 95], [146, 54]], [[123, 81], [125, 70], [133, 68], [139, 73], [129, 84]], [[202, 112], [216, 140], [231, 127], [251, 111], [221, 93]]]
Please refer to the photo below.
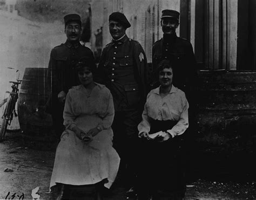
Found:
[[66, 95], [64, 130], [58, 144], [50, 189], [58, 184], [61, 190], [68, 185], [100, 185], [110, 188], [114, 182], [120, 158], [112, 147], [114, 118], [112, 95], [104, 85], [93, 82], [96, 67], [91, 60], [77, 64], [81, 85]]

